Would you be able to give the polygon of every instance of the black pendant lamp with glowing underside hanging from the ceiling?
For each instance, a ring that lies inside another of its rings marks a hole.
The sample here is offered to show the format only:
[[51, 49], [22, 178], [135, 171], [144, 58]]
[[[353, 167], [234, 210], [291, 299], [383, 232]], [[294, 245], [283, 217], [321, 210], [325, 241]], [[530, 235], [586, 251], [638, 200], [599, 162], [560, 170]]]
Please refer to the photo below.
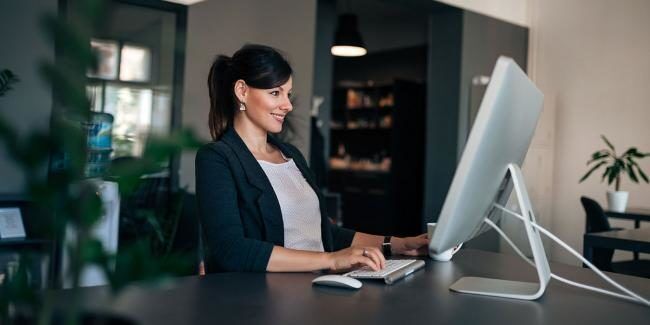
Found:
[[356, 15], [343, 14], [339, 16], [336, 37], [334, 38], [334, 45], [331, 51], [336, 56], [352, 57], [366, 55], [368, 51], [359, 33]]

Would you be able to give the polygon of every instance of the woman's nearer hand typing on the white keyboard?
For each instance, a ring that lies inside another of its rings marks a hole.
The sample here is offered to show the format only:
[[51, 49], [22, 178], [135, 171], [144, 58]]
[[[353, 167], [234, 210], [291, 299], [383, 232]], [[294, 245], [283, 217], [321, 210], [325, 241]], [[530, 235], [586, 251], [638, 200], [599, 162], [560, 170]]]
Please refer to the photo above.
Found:
[[386, 259], [377, 247], [348, 247], [328, 253], [331, 271], [348, 270], [358, 266], [369, 266], [373, 271], [384, 268]]

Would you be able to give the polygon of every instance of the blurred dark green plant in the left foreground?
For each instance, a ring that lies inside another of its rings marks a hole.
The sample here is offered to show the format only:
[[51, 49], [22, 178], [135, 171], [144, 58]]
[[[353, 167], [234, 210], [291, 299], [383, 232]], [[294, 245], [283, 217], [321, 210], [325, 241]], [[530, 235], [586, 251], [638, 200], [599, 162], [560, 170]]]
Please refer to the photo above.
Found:
[[[56, 63], [44, 62], [40, 66], [41, 75], [51, 85], [54, 94], [51, 129], [48, 132], [35, 130], [18, 137], [18, 132], [0, 116], [0, 141], [16, 165], [22, 168], [31, 204], [41, 212], [38, 223], [46, 229], [50, 239], [60, 240], [67, 228], [75, 230], [76, 236], [63, 248], [70, 257], [70, 274], [65, 276], [73, 280], [73, 292], [79, 286], [82, 270], [95, 265], [105, 272], [111, 289], [117, 293], [132, 281], [156, 282], [168, 278], [186, 268], [191, 260], [171, 255], [153, 257], [151, 242], [147, 239], [129, 247], [120, 246], [117, 255], [109, 254], [101, 241], [93, 236], [93, 227], [103, 215], [103, 207], [96, 185], [84, 180], [87, 138], [81, 125], [90, 118], [86, 71], [97, 64], [89, 39], [103, 21], [106, 3], [82, 0], [75, 1], [75, 6], [78, 10], [74, 13], [74, 20], [48, 15], [41, 21], [48, 39], [56, 44], [61, 54]], [[17, 81], [11, 71], [3, 70], [0, 73], [0, 96]], [[171, 155], [199, 145], [188, 130], [173, 132], [167, 137], [151, 136], [142, 159], [112, 166], [109, 180], [119, 184], [122, 197], [129, 196], [143, 175], [159, 172]], [[60, 165], [47, 180], [43, 180], [39, 177], [39, 170], [48, 165], [51, 157], [55, 163], [59, 160]], [[25, 267], [27, 259], [21, 257], [16, 273], [0, 285], [2, 324], [11, 323], [17, 316], [39, 324], [48, 324], [53, 319], [52, 292], [41, 292], [30, 286]], [[115, 268], [115, 265], [119, 267]], [[66, 308], [66, 323], [79, 321], [80, 303], [79, 295], [73, 294], [68, 302], [69, 308]]]

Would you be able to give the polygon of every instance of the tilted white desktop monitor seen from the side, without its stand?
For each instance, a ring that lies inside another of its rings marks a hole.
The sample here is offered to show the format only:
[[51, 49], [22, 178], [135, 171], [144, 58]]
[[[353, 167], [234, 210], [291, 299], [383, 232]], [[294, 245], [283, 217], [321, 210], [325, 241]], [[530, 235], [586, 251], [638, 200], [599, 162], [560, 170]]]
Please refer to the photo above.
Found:
[[485, 217], [499, 214], [493, 204], [505, 205], [512, 192], [508, 165], [521, 166], [542, 100], [514, 60], [497, 60], [429, 244], [432, 253], [475, 237], [487, 229]]

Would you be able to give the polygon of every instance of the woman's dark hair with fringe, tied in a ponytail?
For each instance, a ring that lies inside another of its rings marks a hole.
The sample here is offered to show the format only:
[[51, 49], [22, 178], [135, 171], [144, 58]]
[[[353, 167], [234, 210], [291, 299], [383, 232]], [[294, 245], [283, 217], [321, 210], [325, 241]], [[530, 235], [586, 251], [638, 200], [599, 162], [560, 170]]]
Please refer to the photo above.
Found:
[[244, 80], [253, 88], [270, 89], [287, 82], [291, 74], [289, 62], [269, 46], [247, 44], [235, 52], [232, 58], [218, 55], [208, 75], [208, 123], [212, 140], [219, 140], [224, 131], [232, 126], [235, 111], [239, 107], [234, 92], [237, 80]]

